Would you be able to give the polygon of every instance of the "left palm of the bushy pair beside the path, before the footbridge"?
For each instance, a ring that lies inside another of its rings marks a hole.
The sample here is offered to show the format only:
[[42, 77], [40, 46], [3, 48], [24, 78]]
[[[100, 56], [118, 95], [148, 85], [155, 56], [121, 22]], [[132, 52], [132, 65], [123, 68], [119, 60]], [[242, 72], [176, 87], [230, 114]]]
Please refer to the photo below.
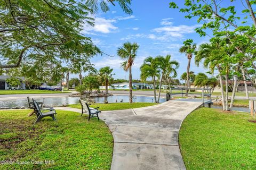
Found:
[[158, 69], [158, 64], [156, 60], [153, 57], [147, 57], [143, 64], [140, 67], [141, 71], [141, 79], [146, 80], [147, 78], [152, 78], [153, 80], [153, 88], [154, 88], [154, 98], [155, 98], [155, 103], [157, 103], [156, 100], [156, 78], [159, 77], [159, 69]]

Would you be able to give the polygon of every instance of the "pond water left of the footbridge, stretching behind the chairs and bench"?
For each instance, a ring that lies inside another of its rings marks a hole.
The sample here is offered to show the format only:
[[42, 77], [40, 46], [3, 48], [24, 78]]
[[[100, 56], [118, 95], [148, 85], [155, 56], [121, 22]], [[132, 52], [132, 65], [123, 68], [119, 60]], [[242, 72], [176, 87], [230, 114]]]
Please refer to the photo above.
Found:
[[[47, 98], [34, 98], [36, 101], [41, 101], [47, 106], [62, 106], [68, 104], [78, 104], [79, 99], [85, 99], [84, 97], [47, 97]], [[121, 102], [123, 103], [129, 102], [129, 96], [109, 96], [109, 97], [94, 97], [95, 103], [104, 103], [105, 100], [108, 103], [116, 103]], [[159, 102], [163, 103], [165, 98], [160, 98]], [[145, 103], [153, 103], [154, 97], [148, 96], [133, 96], [133, 102], [145, 102]], [[0, 107], [21, 107], [25, 106], [28, 107], [28, 100], [27, 99], [6, 99], [4, 101], [0, 101]]]

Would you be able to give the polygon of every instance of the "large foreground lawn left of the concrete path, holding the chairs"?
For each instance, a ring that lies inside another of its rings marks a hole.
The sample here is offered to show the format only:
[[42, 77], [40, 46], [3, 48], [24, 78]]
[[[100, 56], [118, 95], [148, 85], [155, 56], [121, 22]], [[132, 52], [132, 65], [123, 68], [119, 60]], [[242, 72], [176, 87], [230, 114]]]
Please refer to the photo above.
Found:
[[[0, 111], [0, 169], [110, 169], [113, 137], [103, 121], [57, 111], [58, 122], [43, 118], [34, 127], [30, 110]], [[53, 160], [54, 164], [18, 165]]]

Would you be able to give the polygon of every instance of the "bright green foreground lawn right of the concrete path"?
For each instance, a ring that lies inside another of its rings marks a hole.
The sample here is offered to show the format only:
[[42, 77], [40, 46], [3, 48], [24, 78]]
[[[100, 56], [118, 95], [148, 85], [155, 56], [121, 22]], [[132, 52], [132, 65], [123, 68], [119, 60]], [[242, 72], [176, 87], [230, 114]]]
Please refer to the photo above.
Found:
[[246, 113], [200, 108], [181, 125], [179, 144], [190, 169], [256, 169], [256, 123]]

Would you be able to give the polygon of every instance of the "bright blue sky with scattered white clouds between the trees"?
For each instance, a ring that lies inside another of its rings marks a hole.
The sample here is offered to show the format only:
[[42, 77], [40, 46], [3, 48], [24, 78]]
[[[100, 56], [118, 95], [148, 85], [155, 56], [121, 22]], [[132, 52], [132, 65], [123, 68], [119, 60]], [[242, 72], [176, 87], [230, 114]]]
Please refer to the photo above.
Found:
[[[116, 5], [110, 11], [99, 11], [95, 15], [94, 27], [84, 27], [84, 35], [92, 38], [103, 52], [113, 55], [96, 56], [91, 62], [97, 69], [110, 66], [114, 69], [114, 78], [123, 79], [128, 73], [120, 68], [122, 62], [116, 54], [117, 48], [126, 41], [140, 45], [138, 56], [132, 67], [133, 79], [140, 79], [140, 65], [148, 56], [171, 54], [172, 60], [180, 63], [178, 78], [187, 69], [187, 57], [179, 53], [179, 47], [186, 39], [193, 39], [196, 44], [207, 42], [209, 37], [199, 37], [194, 31], [198, 27], [196, 19], [185, 19], [184, 14], [169, 8], [169, 1], [140, 0], [132, 1], [132, 15], [125, 14]], [[194, 60], [190, 70], [195, 73], [206, 72], [203, 67], [196, 67]]]

